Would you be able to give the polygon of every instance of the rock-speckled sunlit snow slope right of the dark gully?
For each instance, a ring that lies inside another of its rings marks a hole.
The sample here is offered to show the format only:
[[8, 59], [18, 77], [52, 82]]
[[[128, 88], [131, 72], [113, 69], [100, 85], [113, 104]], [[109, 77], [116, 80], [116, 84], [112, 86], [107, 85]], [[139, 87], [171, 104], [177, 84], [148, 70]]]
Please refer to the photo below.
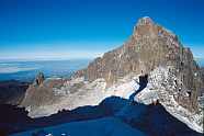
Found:
[[[141, 91], [143, 99], [151, 95], [155, 99], [159, 99], [165, 109], [174, 117], [185, 123], [192, 129], [203, 133], [203, 112], [199, 113], [189, 111], [182, 107], [174, 99], [179, 95], [188, 95], [188, 92], [178, 92], [177, 84], [174, 82], [175, 77], [167, 70], [169, 68], [159, 67], [151, 71], [150, 81], [151, 84], [149, 91]], [[137, 100], [137, 99], [136, 99]]]

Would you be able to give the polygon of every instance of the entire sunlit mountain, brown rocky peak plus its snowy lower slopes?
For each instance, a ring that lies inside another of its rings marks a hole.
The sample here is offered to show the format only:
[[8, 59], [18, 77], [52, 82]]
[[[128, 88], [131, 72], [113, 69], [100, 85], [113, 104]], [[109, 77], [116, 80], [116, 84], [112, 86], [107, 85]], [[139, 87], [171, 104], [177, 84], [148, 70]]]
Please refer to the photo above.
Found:
[[98, 105], [111, 95], [129, 99], [139, 88], [140, 75], [148, 76], [148, 83], [134, 95], [135, 101], [159, 101], [171, 115], [203, 132], [197, 101], [204, 84], [200, 67], [190, 48], [150, 18], [138, 21], [124, 45], [94, 59], [70, 80], [49, 79], [30, 86], [21, 106], [31, 117], [41, 117], [63, 109]]

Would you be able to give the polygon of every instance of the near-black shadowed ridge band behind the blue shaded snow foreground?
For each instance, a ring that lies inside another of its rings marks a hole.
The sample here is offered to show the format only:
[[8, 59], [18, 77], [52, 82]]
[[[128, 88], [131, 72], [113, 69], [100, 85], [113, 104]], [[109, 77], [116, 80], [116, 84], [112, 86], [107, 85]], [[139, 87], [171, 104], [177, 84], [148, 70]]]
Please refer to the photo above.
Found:
[[[114, 117], [135, 129], [144, 132], [148, 136], [202, 136], [201, 133], [192, 131], [184, 123], [169, 114], [159, 103], [157, 105], [145, 105], [137, 102], [129, 103], [128, 100], [117, 97], [106, 98], [95, 106], [81, 106], [72, 111], [61, 111], [52, 116], [35, 120], [27, 117], [24, 109], [13, 106], [5, 107], [7, 110], [3, 111], [3, 113], [7, 114], [11, 112], [12, 116], [9, 123], [12, 124], [8, 125], [7, 121], [0, 117], [0, 121], [2, 121], [0, 122], [0, 126], [4, 126], [2, 131], [9, 131], [8, 133], [10, 134], [32, 129], [36, 132], [35, 129], [39, 128], [46, 131], [44, 127], [47, 126], [52, 126], [49, 131], [55, 129], [60, 132], [60, 129], [56, 129], [55, 127], [65, 123], [75, 122], [75, 126], [79, 127], [79, 121], [86, 123], [90, 120], [97, 121], [98, 118]], [[16, 121], [21, 123], [21, 125], [18, 125]], [[90, 127], [88, 124], [86, 125], [84, 127]], [[113, 124], [105, 125], [112, 126]], [[92, 131], [94, 132], [95, 129]]]

